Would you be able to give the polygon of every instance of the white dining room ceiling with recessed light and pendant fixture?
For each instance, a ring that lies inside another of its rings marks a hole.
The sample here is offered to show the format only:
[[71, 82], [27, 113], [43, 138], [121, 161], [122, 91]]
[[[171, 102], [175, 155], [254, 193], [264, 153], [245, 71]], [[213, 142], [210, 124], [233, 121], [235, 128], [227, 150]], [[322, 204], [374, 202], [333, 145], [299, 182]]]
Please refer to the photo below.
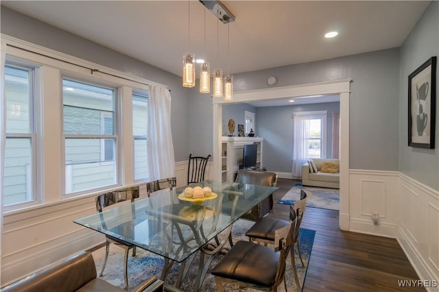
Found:
[[180, 76], [187, 51], [234, 74], [400, 47], [430, 1], [222, 3], [235, 16], [228, 25], [200, 1], [1, 1]]

